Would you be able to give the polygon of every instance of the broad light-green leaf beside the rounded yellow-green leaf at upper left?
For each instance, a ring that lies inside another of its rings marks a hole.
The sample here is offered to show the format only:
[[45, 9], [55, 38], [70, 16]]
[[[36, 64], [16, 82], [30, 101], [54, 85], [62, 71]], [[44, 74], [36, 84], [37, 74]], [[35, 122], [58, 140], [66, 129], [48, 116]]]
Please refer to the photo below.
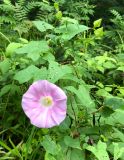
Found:
[[17, 54], [28, 53], [27, 57], [36, 61], [40, 55], [49, 51], [49, 46], [46, 41], [31, 41], [22, 48], [16, 50]]

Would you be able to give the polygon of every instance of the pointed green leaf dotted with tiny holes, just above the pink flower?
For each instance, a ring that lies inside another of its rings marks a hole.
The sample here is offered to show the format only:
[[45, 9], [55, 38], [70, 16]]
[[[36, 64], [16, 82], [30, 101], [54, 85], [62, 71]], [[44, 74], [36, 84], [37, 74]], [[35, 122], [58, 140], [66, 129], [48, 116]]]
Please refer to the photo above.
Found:
[[67, 65], [59, 65], [57, 62], [50, 61], [48, 69], [48, 80], [55, 83], [63, 76], [72, 73], [71, 67]]

